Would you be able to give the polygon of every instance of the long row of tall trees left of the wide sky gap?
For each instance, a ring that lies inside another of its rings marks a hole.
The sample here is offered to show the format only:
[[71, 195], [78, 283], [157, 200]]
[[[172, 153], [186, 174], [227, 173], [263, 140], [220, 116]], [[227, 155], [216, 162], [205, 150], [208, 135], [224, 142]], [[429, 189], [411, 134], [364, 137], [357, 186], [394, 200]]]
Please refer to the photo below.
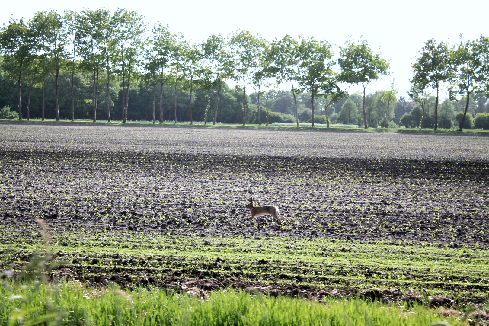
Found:
[[[189, 92], [188, 106], [192, 123], [192, 95], [196, 89], [217, 89], [214, 123], [219, 109], [221, 89], [226, 80], [243, 85], [243, 124], [246, 123], [246, 86], [252, 84], [258, 94], [258, 123], [261, 124], [260, 96], [267, 96], [272, 84], [288, 83], [295, 98], [297, 93], [311, 95], [311, 123], [314, 125], [314, 102], [321, 97], [328, 105], [347, 96], [339, 83], [362, 84], [365, 87], [380, 74], [388, 73], [388, 63], [374, 53], [365, 40], [348, 40], [340, 48], [340, 59], [333, 59], [332, 44], [313, 37], [268, 42], [259, 35], [237, 30], [225, 39], [211, 35], [200, 43], [190, 43], [181, 34], [173, 34], [168, 25], [156, 23], [147, 35], [146, 22], [134, 11], [118, 9], [38, 12], [32, 19], [15, 20], [1, 30], [2, 69], [18, 86], [19, 117], [22, 118], [22, 80], [28, 93], [32, 88], [44, 90], [49, 76], [55, 76], [55, 111], [59, 115], [59, 75], [69, 72], [71, 118], [74, 119], [74, 78], [84, 72], [92, 74], [92, 98], [96, 121], [99, 87], [107, 87], [107, 118], [111, 112], [111, 80], [121, 80], [122, 121], [127, 121], [129, 90], [143, 80], [159, 88], [159, 120], [163, 121], [163, 87], [173, 87], [174, 119], [177, 121], [177, 91]], [[210, 103], [209, 107], [210, 109]], [[295, 117], [298, 124], [297, 105]], [[27, 118], [30, 95], [27, 100]], [[44, 118], [44, 91], [43, 113]], [[207, 120], [207, 110], [204, 120]], [[156, 121], [156, 108], [153, 121]], [[367, 126], [365, 122], [365, 126]]]

